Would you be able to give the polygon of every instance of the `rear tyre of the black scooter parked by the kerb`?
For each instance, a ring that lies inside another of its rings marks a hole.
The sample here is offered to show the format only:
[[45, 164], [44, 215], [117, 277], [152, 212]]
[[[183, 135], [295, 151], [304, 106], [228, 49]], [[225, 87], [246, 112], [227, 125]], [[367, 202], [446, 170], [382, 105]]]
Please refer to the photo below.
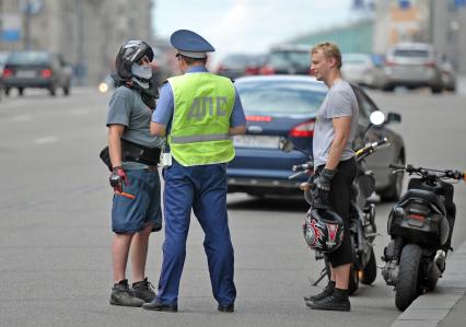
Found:
[[407, 244], [403, 247], [395, 293], [395, 305], [400, 311], [405, 311], [420, 294], [421, 258], [422, 248], [419, 245]]

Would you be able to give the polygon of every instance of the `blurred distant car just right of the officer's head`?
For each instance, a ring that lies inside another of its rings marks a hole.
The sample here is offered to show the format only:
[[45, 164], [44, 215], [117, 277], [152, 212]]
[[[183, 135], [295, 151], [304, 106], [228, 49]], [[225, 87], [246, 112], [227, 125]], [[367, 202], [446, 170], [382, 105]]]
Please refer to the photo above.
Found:
[[264, 55], [231, 54], [219, 63], [217, 73], [229, 79], [258, 74], [264, 66]]

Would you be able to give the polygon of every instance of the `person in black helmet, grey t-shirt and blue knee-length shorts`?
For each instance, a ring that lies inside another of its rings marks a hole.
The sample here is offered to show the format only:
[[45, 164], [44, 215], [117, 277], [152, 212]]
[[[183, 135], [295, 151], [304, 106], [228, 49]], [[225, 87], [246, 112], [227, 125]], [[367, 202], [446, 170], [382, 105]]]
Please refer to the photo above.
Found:
[[[142, 40], [125, 43], [116, 57], [118, 83], [107, 117], [114, 188], [112, 255], [115, 284], [110, 304], [141, 306], [155, 293], [145, 277], [149, 235], [162, 227], [158, 163], [164, 139], [149, 132], [158, 97], [152, 83], [152, 48]], [[131, 253], [132, 288], [126, 279]]]

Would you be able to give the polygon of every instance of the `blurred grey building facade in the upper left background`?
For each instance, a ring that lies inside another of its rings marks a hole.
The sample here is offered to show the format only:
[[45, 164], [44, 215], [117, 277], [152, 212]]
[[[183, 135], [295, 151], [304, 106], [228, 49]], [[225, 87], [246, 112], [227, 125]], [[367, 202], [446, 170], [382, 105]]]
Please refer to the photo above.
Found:
[[1, 0], [0, 50], [61, 52], [77, 83], [95, 84], [125, 40], [151, 40], [151, 7], [152, 0]]

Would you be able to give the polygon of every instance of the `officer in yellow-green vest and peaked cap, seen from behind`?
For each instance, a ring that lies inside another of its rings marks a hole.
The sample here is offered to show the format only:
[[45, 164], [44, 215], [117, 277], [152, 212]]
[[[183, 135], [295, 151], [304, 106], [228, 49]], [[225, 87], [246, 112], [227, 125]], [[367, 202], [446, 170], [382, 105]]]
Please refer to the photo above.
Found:
[[206, 69], [206, 52], [214, 48], [187, 30], [173, 33], [171, 43], [177, 49], [184, 74], [168, 79], [162, 86], [152, 115], [151, 132], [167, 133], [173, 157], [163, 171], [165, 242], [158, 297], [143, 307], [177, 311], [193, 209], [205, 232], [203, 247], [218, 310], [233, 312], [236, 289], [226, 213], [226, 163], [234, 157], [231, 136], [244, 133], [246, 120], [232, 81]]

